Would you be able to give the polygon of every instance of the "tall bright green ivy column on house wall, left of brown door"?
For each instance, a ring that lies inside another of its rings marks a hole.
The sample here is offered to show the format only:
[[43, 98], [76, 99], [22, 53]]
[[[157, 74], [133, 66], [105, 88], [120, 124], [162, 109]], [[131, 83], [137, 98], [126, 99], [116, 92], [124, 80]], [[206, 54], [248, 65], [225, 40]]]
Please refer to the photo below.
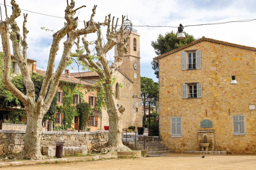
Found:
[[64, 92], [64, 103], [62, 106], [57, 106], [57, 110], [58, 112], [63, 112], [64, 124], [66, 125], [67, 123], [66, 128], [71, 128], [72, 120], [75, 116], [78, 116], [75, 106], [72, 105], [73, 95], [76, 93], [76, 85], [69, 82], [63, 82], [61, 83], [61, 90]]

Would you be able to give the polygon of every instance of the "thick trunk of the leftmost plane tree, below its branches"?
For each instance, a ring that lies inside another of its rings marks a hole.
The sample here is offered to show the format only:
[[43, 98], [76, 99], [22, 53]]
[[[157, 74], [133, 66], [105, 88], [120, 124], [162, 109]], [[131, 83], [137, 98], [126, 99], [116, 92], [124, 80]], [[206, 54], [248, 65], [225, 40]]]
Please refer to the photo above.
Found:
[[40, 148], [43, 114], [29, 109], [26, 109], [26, 112], [28, 115], [27, 128], [24, 148], [21, 151], [20, 156], [23, 159], [40, 160], [43, 158]]

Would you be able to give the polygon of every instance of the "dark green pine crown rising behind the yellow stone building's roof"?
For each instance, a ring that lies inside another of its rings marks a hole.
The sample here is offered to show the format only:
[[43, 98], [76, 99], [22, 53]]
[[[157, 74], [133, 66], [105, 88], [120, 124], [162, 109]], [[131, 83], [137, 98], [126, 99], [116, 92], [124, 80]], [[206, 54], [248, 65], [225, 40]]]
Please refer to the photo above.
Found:
[[[197, 40], [194, 38], [193, 35], [189, 35], [187, 33], [185, 33], [185, 36], [186, 36], [185, 39], [178, 40], [177, 34], [178, 34], [178, 31], [176, 33], [171, 31], [170, 33], [166, 33], [165, 36], [163, 36], [162, 34], [159, 34], [156, 41], [151, 41], [151, 46], [154, 48], [155, 53], [159, 56], [161, 54], [164, 54], [166, 52], [169, 52], [171, 50], [174, 50], [178, 47], [181, 47], [183, 45], [186, 45], [190, 42]], [[152, 65], [152, 69], [155, 71], [156, 77], [159, 78], [158, 61], [153, 60], [151, 62], [151, 65]]]

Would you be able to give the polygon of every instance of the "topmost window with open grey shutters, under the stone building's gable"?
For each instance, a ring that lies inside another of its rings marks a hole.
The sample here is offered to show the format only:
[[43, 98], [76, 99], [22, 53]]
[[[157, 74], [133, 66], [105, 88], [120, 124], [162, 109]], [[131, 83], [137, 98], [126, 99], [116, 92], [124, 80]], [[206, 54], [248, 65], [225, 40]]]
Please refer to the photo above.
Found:
[[201, 69], [201, 51], [181, 53], [182, 70]]

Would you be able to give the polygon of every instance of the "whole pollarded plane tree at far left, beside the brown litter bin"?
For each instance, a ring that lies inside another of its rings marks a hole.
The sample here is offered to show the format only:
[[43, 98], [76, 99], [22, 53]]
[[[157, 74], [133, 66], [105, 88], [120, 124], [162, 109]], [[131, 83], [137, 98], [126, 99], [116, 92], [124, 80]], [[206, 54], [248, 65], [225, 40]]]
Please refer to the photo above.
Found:
[[[49, 52], [49, 61], [44, 77], [40, 94], [37, 101], [35, 101], [35, 88], [30, 77], [30, 71], [27, 65], [27, 49], [28, 44], [26, 42], [28, 30], [26, 29], [27, 14], [24, 14], [23, 22], [23, 39], [20, 34], [20, 28], [18, 27], [15, 19], [20, 16], [19, 5], [15, 0], [11, 1], [13, 6], [12, 14], [10, 18], [7, 15], [7, 7], [5, 6], [6, 19], [0, 21], [0, 33], [2, 39], [3, 53], [4, 53], [4, 70], [3, 70], [3, 84], [6, 88], [15, 95], [23, 104], [27, 112], [27, 129], [25, 134], [24, 148], [16, 155], [17, 158], [26, 159], [42, 159], [44, 158], [40, 152], [40, 135], [42, 133], [42, 119], [48, 111], [53, 97], [57, 91], [59, 80], [67, 62], [70, 58], [71, 48], [75, 39], [80, 35], [86, 35], [89, 33], [95, 33], [98, 25], [104, 25], [108, 23], [96, 23], [93, 21], [95, 15], [96, 6], [92, 9], [92, 15], [87, 27], [83, 29], [77, 28], [77, 18], [74, 18], [76, 11], [85, 5], [74, 8], [75, 2], [71, 0], [71, 3], [67, 1], [67, 7], [65, 9], [66, 24], [60, 30], [53, 34], [53, 41]], [[64, 50], [61, 56], [61, 60], [55, 73], [53, 74], [54, 61], [57, 51], [59, 50], [59, 42], [65, 35], [69, 35], [64, 42]], [[26, 87], [26, 94], [20, 92], [10, 80], [10, 66], [11, 66], [11, 49], [10, 40], [13, 46], [14, 57], [20, 67], [22, 78]], [[23, 48], [22, 48], [22, 47]], [[50, 84], [50, 79], [52, 79]], [[46, 94], [49, 86], [49, 92]]]

